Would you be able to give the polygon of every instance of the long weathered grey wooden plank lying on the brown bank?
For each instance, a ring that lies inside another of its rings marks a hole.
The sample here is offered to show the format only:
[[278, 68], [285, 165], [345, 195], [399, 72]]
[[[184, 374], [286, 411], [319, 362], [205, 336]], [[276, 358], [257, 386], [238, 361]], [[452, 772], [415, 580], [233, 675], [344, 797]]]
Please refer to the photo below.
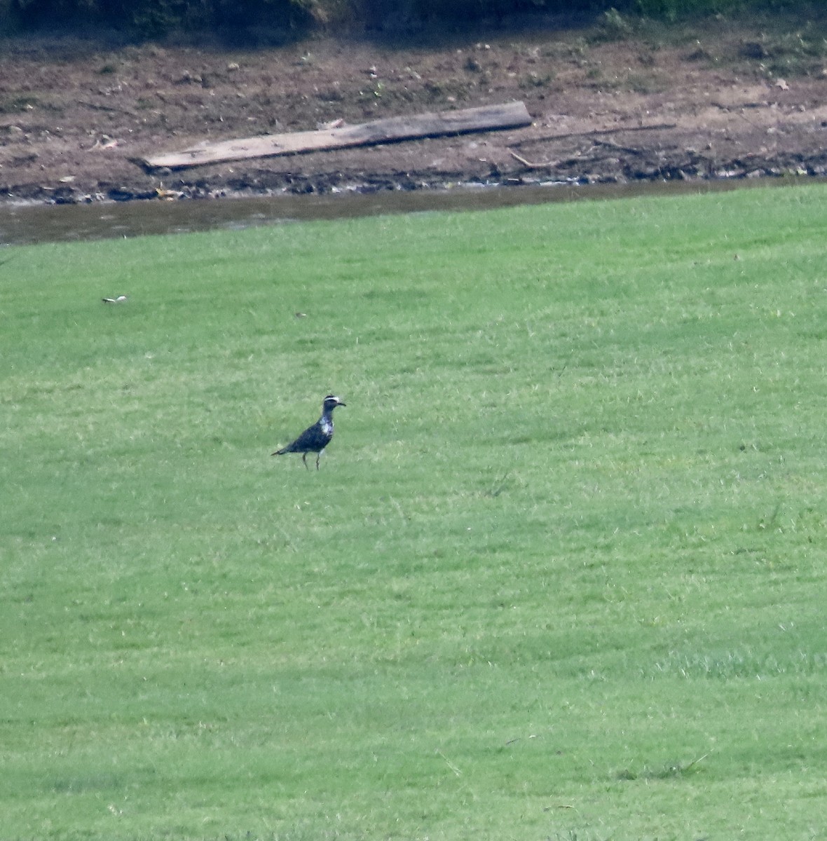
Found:
[[531, 125], [525, 103], [484, 105], [460, 111], [440, 111], [411, 117], [376, 119], [358, 125], [342, 125], [319, 131], [296, 131], [283, 135], [262, 135], [243, 140], [204, 143], [164, 155], [140, 159], [149, 169], [199, 167], [208, 163], [242, 161], [247, 158], [294, 155], [299, 152], [342, 149], [347, 146], [416, 140], [421, 137], [460, 135], [473, 131], [517, 129]]

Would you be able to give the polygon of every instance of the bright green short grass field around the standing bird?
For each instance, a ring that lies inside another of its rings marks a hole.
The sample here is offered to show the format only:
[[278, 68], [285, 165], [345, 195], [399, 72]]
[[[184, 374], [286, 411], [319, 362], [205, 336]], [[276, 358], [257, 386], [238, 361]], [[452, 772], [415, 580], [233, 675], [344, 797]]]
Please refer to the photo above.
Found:
[[815, 185], [0, 252], [0, 837], [824, 838], [825, 233]]

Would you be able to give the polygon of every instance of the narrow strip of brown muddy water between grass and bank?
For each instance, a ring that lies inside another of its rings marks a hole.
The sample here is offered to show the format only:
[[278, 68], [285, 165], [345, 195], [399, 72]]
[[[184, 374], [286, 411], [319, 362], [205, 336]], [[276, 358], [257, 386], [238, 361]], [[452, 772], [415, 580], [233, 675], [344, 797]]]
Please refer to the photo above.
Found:
[[[384, 191], [369, 195], [339, 193], [175, 202], [133, 201], [122, 204], [0, 204], [0, 246], [176, 234], [197, 230], [240, 230], [254, 225], [431, 210], [482, 210], [517, 204], [708, 193], [713, 190], [777, 185], [781, 182], [782, 179], [755, 182], [635, 182], [590, 186], [549, 184], [532, 187], [457, 187], [418, 193]], [[789, 183], [788, 179], [784, 179], [784, 182]]]

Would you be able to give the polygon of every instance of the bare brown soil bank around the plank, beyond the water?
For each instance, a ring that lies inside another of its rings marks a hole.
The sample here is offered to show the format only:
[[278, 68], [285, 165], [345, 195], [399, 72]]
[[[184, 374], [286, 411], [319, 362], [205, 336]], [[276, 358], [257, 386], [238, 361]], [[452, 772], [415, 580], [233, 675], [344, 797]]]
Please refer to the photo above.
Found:
[[[13, 40], [0, 44], [0, 201], [822, 175], [825, 66], [766, 21], [500, 30], [439, 46]], [[514, 99], [531, 127], [177, 172], [135, 163], [204, 140]]]

